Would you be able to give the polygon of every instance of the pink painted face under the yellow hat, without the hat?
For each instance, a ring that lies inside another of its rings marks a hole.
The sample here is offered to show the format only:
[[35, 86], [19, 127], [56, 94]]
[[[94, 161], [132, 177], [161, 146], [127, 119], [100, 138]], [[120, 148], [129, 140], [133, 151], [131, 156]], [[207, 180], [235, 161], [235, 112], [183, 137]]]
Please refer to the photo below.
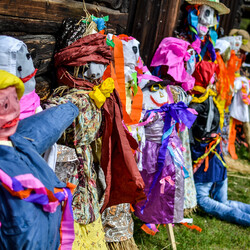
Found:
[[0, 90], [0, 140], [16, 132], [20, 114], [19, 100], [14, 86]]

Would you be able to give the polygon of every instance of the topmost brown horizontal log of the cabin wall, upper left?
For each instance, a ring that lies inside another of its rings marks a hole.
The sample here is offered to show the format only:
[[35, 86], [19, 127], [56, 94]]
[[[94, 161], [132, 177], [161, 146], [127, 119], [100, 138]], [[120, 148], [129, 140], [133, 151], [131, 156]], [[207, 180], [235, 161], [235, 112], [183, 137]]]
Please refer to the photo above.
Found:
[[[90, 14], [109, 15], [110, 23], [126, 28], [127, 13], [93, 4], [86, 4], [86, 7]], [[1, 0], [0, 15], [61, 22], [67, 17], [80, 19], [85, 13], [82, 2], [74, 0]]]

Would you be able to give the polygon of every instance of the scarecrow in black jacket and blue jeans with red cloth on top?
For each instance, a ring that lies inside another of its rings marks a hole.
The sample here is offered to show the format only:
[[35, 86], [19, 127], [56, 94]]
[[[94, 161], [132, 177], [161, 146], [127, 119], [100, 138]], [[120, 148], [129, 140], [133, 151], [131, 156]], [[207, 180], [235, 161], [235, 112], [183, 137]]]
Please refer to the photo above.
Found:
[[240, 225], [250, 225], [250, 205], [227, 199], [227, 170], [220, 148], [220, 128], [224, 108], [213, 90], [218, 65], [201, 61], [193, 76], [196, 79], [190, 107], [198, 112], [192, 127], [191, 152], [198, 205], [207, 213]]

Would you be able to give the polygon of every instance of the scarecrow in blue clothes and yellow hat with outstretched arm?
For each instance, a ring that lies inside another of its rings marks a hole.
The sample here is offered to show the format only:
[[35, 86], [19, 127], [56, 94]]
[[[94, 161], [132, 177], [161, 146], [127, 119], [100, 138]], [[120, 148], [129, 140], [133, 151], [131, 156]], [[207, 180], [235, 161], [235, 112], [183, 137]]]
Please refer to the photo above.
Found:
[[68, 249], [74, 241], [69, 189], [74, 185], [60, 182], [41, 154], [78, 109], [68, 102], [18, 122], [23, 92], [18, 77], [0, 70], [0, 248], [58, 249], [61, 244]]

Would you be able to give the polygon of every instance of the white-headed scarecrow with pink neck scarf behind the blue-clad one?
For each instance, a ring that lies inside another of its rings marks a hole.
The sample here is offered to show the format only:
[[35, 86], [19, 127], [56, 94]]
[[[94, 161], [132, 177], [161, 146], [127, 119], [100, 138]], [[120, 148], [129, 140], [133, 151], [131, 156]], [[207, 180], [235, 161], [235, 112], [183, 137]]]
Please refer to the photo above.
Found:
[[[24, 42], [10, 36], [0, 36], [0, 69], [19, 77], [24, 83], [24, 95], [20, 100], [20, 117], [26, 117], [41, 112], [40, 97], [35, 91], [35, 75], [31, 54]], [[44, 159], [55, 170], [57, 144], [55, 143], [44, 153]]]

